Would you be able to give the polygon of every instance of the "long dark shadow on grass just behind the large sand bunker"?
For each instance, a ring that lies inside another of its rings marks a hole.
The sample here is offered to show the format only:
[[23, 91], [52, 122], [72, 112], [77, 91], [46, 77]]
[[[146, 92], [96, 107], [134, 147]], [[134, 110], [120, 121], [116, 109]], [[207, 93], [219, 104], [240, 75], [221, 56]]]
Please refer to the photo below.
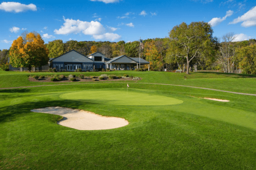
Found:
[[[55, 100], [55, 101], [38, 101], [38, 102], [29, 102], [29, 103], [22, 103], [16, 104], [6, 107], [0, 107], [0, 123], [2, 122], [9, 122], [15, 121], [21, 117], [26, 116], [26, 114], [30, 113], [31, 109], [38, 109], [42, 107], [54, 107], [54, 106], [61, 106], [61, 107], [69, 107], [72, 109], [76, 109], [81, 105], [87, 105], [88, 102], [76, 101], [76, 100]], [[99, 103], [92, 103], [90, 105], [99, 104]]]

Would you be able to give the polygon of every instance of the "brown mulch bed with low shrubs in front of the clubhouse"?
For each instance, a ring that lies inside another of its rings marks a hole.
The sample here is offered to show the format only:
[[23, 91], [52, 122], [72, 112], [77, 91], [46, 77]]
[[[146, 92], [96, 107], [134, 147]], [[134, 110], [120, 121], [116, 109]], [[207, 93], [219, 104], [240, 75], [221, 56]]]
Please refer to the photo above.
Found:
[[[45, 77], [45, 78], [39, 78], [38, 80], [36, 80], [35, 78], [33, 78], [33, 77], [29, 77], [28, 78], [28, 80], [30, 81], [30, 82], [52, 82], [51, 80], [50, 80], [50, 78], [52, 78], [52, 77]], [[132, 78], [117, 78], [117, 79], [109, 79], [109, 78], [107, 78], [107, 79], [104, 79], [104, 80], [99, 80], [99, 77], [97, 77], [97, 78], [94, 78], [94, 79], [96, 79], [96, 81], [94, 81], [92, 78], [90, 78], [90, 77], [85, 77], [85, 78], [83, 78], [83, 79], [81, 79], [81, 78], [79, 78], [79, 77], [75, 77], [76, 78], [76, 81], [74, 81], [74, 82], [106, 82], [106, 81], [125, 81], [125, 80], [132, 80]], [[59, 82], [72, 82], [71, 80], [70, 80], [70, 78], [69, 77], [66, 77], [66, 78], [64, 78], [64, 80], [62, 80], [62, 81], [59, 81]], [[58, 83], [58, 82], [57, 82]]]

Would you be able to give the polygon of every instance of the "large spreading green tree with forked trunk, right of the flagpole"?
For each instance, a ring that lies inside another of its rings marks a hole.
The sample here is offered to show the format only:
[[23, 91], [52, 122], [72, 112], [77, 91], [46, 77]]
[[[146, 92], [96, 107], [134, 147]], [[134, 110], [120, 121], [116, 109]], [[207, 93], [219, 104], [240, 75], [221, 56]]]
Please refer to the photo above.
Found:
[[182, 22], [169, 32], [170, 50], [178, 58], [187, 60], [187, 74], [190, 62], [202, 55], [214, 53], [217, 39], [213, 37], [213, 29], [207, 22], [191, 22], [187, 25]]

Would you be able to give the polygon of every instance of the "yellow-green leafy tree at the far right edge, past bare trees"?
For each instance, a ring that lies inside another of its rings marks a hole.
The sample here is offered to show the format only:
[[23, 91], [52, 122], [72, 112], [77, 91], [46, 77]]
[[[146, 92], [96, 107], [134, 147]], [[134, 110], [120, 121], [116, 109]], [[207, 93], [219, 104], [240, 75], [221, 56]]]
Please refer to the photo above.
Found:
[[256, 74], [256, 44], [237, 49], [237, 60], [245, 74]]

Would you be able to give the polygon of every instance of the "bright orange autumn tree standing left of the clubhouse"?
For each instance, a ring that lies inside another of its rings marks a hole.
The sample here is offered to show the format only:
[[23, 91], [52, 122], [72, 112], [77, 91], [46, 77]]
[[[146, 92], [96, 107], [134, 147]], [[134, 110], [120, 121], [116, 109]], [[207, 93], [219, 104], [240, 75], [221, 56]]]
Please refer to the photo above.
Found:
[[26, 38], [22, 36], [13, 41], [10, 47], [10, 65], [13, 67], [40, 67], [48, 63], [48, 49], [40, 34], [30, 32]]

